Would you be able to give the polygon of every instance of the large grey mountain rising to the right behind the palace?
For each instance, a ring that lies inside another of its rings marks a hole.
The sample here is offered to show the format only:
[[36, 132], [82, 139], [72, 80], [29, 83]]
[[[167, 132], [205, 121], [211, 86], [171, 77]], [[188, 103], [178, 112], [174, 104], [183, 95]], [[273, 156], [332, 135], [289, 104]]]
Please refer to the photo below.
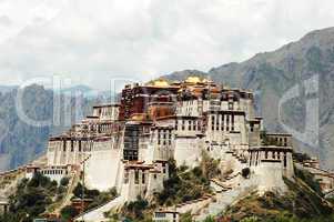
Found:
[[223, 64], [209, 72], [179, 71], [165, 78], [179, 80], [196, 73], [252, 89], [267, 131], [292, 132], [300, 150], [334, 169], [334, 28], [310, 32], [296, 42], [241, 63]]

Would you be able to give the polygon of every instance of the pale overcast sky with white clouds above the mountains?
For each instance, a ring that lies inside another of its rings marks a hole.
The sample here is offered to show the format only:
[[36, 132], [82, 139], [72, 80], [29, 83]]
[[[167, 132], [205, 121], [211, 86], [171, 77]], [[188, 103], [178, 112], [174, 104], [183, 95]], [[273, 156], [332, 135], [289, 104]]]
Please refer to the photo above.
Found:
[[0, 0], [0, 84], [208, 71], [333, 21], [333, 0]]

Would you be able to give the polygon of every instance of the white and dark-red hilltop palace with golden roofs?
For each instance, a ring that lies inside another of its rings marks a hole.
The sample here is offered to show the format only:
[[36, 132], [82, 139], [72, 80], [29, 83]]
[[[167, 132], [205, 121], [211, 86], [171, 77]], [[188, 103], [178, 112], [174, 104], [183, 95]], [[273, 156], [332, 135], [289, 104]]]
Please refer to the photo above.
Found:
[[[221, 160], [220, 169], [230, 172], [229, 178], [211, 181], [212, 196], [156, 209], [153, 215], [154, 221], [176, 221], [179, 213], [191, 211], [201, 221], [251, 191], [284, 193], [283, 178], [294, 176], [292, 137], [263, 131], [250, 91], [198, 77], [125, 85], [119, 103], [93, 107], [92, 115], [50, 138], [47, 164], [27, 167], [26, 176], [41, 172], [55, 181], [71, 176], [73, 182], [81, 175], [90, 189], [115, 188], [117, 199], [75, 219], [104, 221], [104, 212], [161, 192], [170, 159], [178, 167], [194, 168], [205, 152]], [[244, 169], [250, 170], [247, 178]], [[324, 179], [326, 185], [332, 189], [331, 176]]]

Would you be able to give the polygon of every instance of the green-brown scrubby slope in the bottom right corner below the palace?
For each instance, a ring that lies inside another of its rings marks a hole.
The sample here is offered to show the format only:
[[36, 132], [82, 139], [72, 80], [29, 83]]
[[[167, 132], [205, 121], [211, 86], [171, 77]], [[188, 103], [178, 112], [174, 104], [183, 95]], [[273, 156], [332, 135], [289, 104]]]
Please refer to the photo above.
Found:
[[306, 171], [296, 170], [295, 181], [285, 180], [289, 192], [279, 195], [253, 193], [231, 206], [225, 218], [232, 221], [333, 221], [331, 203], [322, 198], [318, 182]]

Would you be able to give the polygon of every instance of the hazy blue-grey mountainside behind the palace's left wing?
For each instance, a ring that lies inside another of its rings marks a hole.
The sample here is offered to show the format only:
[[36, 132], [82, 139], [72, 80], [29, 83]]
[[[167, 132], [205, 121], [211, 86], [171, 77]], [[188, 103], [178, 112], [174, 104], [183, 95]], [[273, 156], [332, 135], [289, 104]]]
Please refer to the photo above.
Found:
[[[27, 87], [22, 91], [23, 112], [34, 121], [51, 121], [50, 125], [37, 127], [19, 118], [16, 108], [17, 92], [18, 89], [12, 89], [0, 93], [0, 172], [34, 160], [45, 151], [49, 135], [71, 127], [90, 113], [92, 104], [98, 103], [95, 99], [78, 98], [79, 103], [75, 104], [73, 98], [64, 100], [60, 95], [60, 105], [54, 105], [53, 109], [51, 90], [41, 85]], [[68, 101], [67, 105], [64, 101]], [[59, 121], [54, 117], [60, 118]]]

